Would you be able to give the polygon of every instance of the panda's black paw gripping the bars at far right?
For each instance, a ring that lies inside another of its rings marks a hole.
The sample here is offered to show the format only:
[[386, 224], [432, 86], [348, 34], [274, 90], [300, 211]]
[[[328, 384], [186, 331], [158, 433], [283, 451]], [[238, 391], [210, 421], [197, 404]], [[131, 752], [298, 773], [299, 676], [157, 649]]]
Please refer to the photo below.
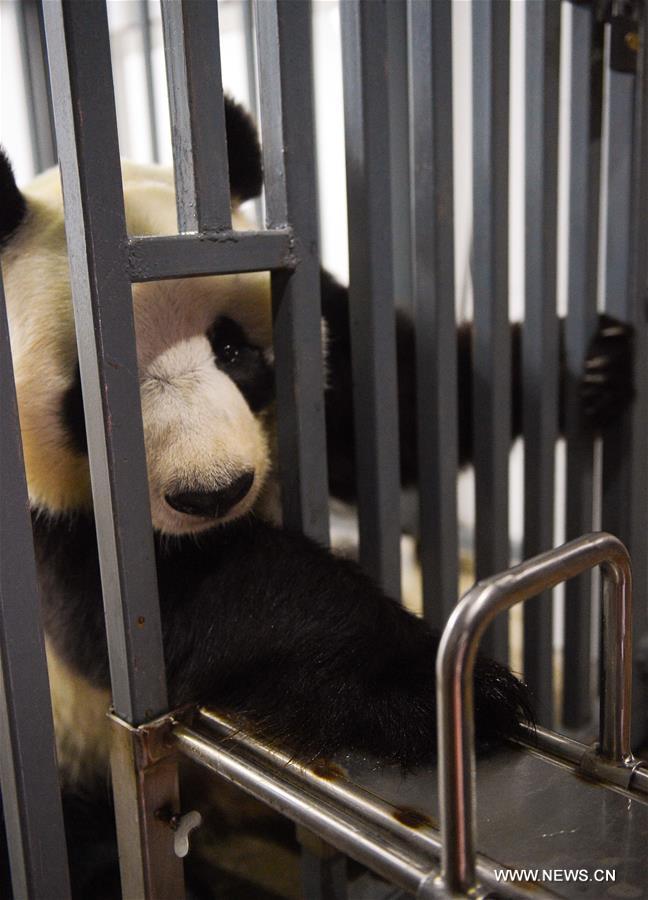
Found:
[[599, 316], [580, 385], [587, 422], [597, 431], [612, 424], [634, 397], [634, 329], [613, 316]]

